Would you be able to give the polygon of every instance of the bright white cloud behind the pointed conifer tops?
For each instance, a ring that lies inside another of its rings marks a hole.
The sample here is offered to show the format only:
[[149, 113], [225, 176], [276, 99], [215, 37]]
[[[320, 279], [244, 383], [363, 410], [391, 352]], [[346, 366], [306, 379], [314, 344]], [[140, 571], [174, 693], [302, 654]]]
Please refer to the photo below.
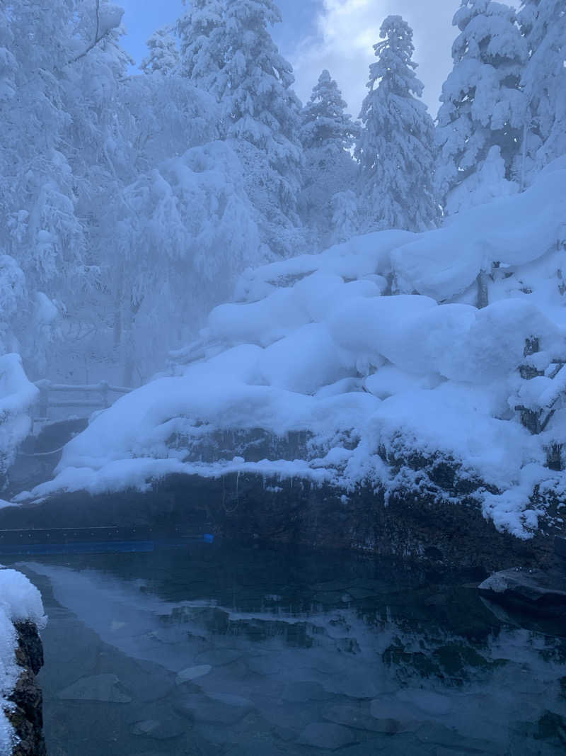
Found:
[[368, 67], [375, 60], [373, 45], [380, 40], [381, 23], [395, 13], [414, 29], [414, 60], [425, 85], [423, 100], [435, 116], [442, 82], [451, 69], [455, 36], [451, 21], [458, 5], [458, 0], [323, 0], [316, 33], [303, 37], [288, 56], [297, 78], [297, 94], [306, 101], [319, 73], [328, 68], [349, 112], [357, 117], [367, 92]]

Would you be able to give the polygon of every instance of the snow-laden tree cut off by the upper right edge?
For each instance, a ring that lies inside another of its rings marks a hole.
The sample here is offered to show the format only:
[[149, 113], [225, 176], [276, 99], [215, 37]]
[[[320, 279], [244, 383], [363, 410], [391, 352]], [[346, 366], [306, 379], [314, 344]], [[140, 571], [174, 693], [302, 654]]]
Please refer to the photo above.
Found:
[[566, 4], [524, 0], [518, 14], [528, 45], [521, 85], [527, 114], [517, 169], [521, 187], [566, 153]]

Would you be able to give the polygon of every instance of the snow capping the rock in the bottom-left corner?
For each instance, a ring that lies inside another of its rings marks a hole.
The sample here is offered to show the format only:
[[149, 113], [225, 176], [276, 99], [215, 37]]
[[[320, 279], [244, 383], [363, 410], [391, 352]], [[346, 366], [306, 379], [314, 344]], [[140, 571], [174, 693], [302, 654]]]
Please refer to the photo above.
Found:
[[0, 753], [11, 752], [13, 730], [4, 713], [8, 696], [14, 690], [20, 669], [16, 665], [17, 635], [14, 622], [32, 621], [38, 629], [47, 618], [42, 597], [29, 580], [14, 569], [0, 565]]

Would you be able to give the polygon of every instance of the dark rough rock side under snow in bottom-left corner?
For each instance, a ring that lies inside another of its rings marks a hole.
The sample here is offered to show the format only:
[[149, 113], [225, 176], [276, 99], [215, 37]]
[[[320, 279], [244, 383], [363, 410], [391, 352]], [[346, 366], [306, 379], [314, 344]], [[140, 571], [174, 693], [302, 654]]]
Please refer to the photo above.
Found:
[[11, 756], [47, 756], [43, 739], [43, 699], [35, 675], [43, 666], [42, 641], [35, 624], [18, 622], [16, 661], [22, 668], [16, 687], [8, 700], [14, 708], [7, 711], [16, 744]]

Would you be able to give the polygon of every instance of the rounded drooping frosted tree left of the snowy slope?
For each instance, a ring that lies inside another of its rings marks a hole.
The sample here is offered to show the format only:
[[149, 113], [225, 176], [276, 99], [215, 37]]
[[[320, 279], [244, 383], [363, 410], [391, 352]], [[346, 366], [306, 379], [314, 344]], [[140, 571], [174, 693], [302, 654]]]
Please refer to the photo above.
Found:
[[158, 163], [124, 188], [116, 211], [115, 314], [129, 386], [134, 364], [165, 361], [229, 297], [236, 275], [259, 262], [260, 243], [241, 165], [220, 141]]

